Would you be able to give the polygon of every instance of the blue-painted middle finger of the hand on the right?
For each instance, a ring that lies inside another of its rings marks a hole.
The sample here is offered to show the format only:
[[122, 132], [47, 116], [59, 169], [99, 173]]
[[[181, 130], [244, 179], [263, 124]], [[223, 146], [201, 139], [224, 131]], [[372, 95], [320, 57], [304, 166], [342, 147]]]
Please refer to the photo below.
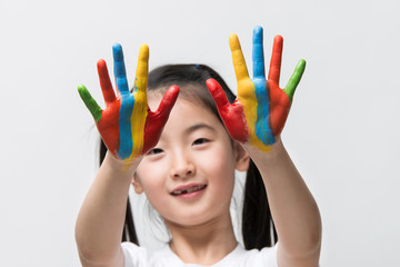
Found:
[[253, 77], [260, 79], [266, 78], [262, 39], [263, 39], [262, 28], [258, 26], [253, 30], [252, 60], [253, 60]]

